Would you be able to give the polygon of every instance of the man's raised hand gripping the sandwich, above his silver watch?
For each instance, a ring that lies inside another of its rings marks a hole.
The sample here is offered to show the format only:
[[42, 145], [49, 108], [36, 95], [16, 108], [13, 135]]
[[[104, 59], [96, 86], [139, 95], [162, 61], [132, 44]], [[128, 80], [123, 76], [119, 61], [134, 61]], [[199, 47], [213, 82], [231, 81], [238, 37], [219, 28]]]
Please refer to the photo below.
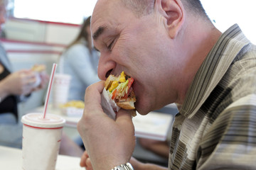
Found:
[[116, 120], [109, 118], [100, 104], [103, 88], [104, 81], [100, 81], [86, 89], [85, 109], [78, 123], [94, 170], [112, 169], [129, 162], [135, 147], [132, 116], [120, 109]]

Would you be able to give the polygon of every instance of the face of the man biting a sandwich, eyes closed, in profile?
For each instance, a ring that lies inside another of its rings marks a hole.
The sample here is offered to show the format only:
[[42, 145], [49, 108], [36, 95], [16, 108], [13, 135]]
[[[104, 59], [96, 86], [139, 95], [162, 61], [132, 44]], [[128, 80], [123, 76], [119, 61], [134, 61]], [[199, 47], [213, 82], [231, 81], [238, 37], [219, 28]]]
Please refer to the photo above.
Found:
[[[141, 114], [170, 103], [168, 35], [151, 13], [137, 18], [120, 1], [99, 0], [92, 14], [93, 44], [100, 51], [98, 74], [105, 80], [111, 74], [134, 78], [135, 106]], [[168, 93], [167, 93], [168, 92]]]

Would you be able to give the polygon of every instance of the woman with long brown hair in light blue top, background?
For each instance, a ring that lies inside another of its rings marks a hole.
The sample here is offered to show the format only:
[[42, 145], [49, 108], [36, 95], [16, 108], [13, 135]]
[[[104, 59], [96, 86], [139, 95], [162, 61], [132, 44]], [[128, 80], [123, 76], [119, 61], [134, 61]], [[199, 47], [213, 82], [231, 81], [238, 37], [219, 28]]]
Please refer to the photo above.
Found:
[[98, 62], [99, 54], [92, 47], [89, 16], [82, 24], [78, 37], [60, 57], [58, 71], [72, 77], [68, 101], [84, 101], [87, 86], [100, 80], [97, 77]]

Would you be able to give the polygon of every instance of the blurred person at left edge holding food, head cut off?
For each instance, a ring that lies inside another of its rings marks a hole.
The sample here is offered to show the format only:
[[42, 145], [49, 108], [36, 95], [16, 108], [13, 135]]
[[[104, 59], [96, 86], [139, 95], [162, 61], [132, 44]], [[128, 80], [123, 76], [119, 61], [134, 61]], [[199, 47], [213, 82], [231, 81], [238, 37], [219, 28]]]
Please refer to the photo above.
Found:
[[[7, 0], [0, 0], [0, 26], [6, 21], [7, 3]], [[35, 87], [37, 79], [33, 70], [13, 72], [6, 51], [0, 44], [0, 145], [21, 148], [22, 126], [18, 122], [18, 102], [26, 101], [33, 91], [46, 87], [48, 74], [40, 75], [41, 84]]]

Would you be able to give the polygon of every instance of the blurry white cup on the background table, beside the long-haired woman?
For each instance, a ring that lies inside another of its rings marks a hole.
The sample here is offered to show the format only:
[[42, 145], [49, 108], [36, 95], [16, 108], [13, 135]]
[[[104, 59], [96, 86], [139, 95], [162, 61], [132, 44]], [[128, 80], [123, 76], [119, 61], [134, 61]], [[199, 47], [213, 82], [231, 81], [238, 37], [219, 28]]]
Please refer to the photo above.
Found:
[[55, 74], [53, 81], [53, 107], [68, 101], [68, 92], [71, 76], [69, 74]]

